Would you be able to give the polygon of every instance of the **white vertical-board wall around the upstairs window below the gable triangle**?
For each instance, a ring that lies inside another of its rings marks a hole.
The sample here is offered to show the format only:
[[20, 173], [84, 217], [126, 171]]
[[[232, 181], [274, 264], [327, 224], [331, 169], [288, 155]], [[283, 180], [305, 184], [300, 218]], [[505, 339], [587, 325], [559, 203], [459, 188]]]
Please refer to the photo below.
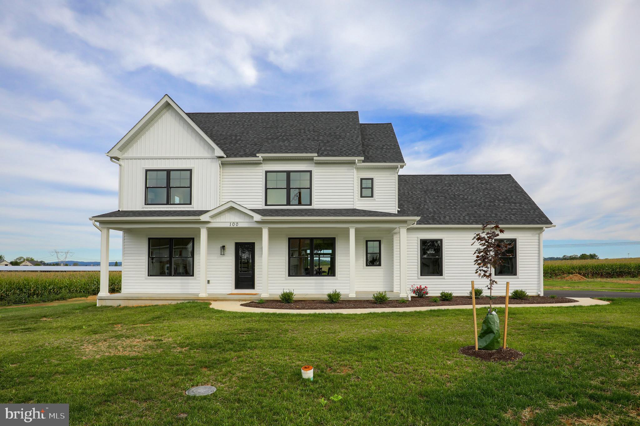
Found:
[[[122, 159], [122, 210], [209, 210], [216, 207], [218, 168], [212, 159]], [[158, 168], [189, 169], [191, 172], [191, 205], [145, 205], [145, 170]]]

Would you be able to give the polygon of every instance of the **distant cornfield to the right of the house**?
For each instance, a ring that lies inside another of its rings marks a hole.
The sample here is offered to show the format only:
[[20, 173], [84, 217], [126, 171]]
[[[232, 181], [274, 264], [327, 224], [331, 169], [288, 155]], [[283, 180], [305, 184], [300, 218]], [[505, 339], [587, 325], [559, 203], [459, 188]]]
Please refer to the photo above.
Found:
[[580, 274], [584, 278], [623, 278], [640, 276], [640, 258], [595, 260], [547, 260], [544, 277]]

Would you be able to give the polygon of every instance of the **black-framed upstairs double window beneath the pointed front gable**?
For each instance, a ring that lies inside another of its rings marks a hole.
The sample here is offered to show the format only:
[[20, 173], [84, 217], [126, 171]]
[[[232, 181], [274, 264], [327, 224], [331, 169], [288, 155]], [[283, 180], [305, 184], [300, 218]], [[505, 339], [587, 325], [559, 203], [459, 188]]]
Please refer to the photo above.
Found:
[[147, 170], [146, 202], [191, 204], [191, 170]]

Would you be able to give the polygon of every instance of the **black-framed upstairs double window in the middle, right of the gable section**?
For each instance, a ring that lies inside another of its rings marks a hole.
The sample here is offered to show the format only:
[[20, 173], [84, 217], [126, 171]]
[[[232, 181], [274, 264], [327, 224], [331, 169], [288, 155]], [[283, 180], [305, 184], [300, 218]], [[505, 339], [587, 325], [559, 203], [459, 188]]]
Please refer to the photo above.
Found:
[[311, 205], [310, 171], [267, 171], [265, 205]]

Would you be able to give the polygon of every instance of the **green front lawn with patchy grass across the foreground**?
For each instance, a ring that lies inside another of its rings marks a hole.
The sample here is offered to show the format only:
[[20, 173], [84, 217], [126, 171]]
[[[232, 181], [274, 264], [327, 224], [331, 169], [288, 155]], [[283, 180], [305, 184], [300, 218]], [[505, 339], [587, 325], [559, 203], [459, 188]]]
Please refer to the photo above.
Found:
[[509, 314], [511, 364], [458, 354], [470, 310], [2, 309], [0, 402], [68, 402], [72, 425], [640, 424], [640, 300]]

